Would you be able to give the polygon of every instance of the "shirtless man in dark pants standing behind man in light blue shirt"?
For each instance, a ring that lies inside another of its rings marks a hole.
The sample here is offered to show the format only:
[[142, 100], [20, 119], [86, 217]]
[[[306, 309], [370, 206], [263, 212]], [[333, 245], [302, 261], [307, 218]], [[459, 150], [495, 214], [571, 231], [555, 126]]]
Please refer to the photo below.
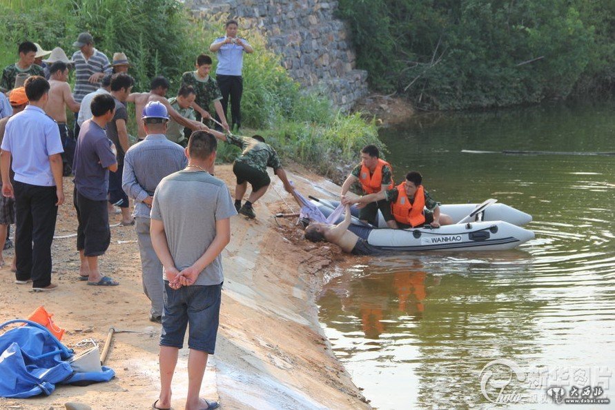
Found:
[[69, 134], [68, 125], [66, 125], [66, 105], [72, 112], [79, 112], [80, 105], [75, 102], [70, 92], [70, 85], [67, 82], [68, 65], [57, 61], [51, 65], [49, 73], [49, 100], [45, 105], [45, 112], [58, 123], [60, 139], [64, 147], [64, 154], [62, 154], [64, 176], [68, 176], [71, 172], [72, 158], [75, 156], [75, 137]]

